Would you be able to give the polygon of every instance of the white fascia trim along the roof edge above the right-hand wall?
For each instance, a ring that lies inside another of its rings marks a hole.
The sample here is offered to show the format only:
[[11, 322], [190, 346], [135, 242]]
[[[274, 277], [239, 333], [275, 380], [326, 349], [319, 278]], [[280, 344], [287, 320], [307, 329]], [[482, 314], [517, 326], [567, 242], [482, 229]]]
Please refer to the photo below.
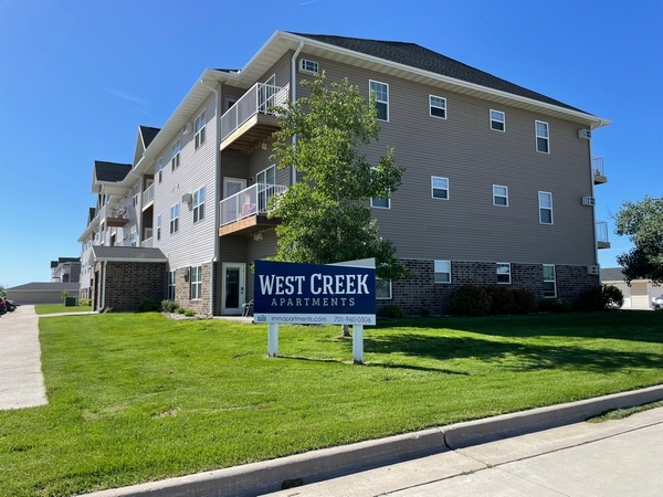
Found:
[[[291, 39], [291, 40], [295, 40], [295, 41], [302, 41], [303, 40], [306, 44], [308, 44], [311, 46], [317, 46], [317, 47], [329, 50], [329, 51], [333, 51], [333, 52], [338, 52], [338, 53], [341, 53], [341, 54], [345, 54], [345, 55], [351, 55], [351, 56], [355, 56], [355, 57], [358, 57], [358, 59], [365, 59], [367, 61], [375, 62], [376, 64], [382, 64], [382, 65], [394, 67], [394, 68], [398, 68], [398, 70], [401, 70], [401, 71], [408, 71], [408, 72], [411, 72], [411, 73], [420, 74], [422, 76], [427, 76], [427, 77], [431, 77], [433, 80], [439, 80], [439, 81], [444, 82], [444, 83], [450, 83], [450, 84], [453, 84], [453, 85], [462, 86], [462, 87], [465, 87], [465, 88], [469, 88], [469, 89], [474, 89], [476, 92], [483, 92], [483, 93], [495, 95], [495, 96], [498, 96], [498, 97], [502, 97], [502, 98], [507, 98], [507, 99], [512, 99], [512, 101], [515, 101], [515, 102], [522, 102], [522, 103], [525, 103], [525, 104], [529, 104], [529, 105], [543, 107], [543, 108], [550, 109], [550, 110], [561, 112], [564, 114], [568, 114], [569, 116], [573, 116], [573, 117], [578, 117], [578, 118], [582, 118], [582, 119], [586, 119], [588, 121], [591, 121], [592, 123], [591, 129], [600, 128], [602, 126], [608, 126], [609, 124], [612, 123], [611, 120], [603, 119], [603, 118], [597, 117], [597, 116], [592, 116], [591, 114], [586, 114], [586, 113], [581, 113], [581, 112], [578, 112], [578, 110], [571, 110], [571, 109], [568, 109], [566, 107], [559, 107], [557, 105], [547, 104], [545, 102], [539, 102], [539, 101], [535, 101], [535, 99], [532, 99], [532, 98], [523, 97], [523, 96], [519, 96], [519, 95], [514, 95], [513, 93], [507, 93], [507, 92], [502, 92], [499, 89], [488, 88], [486, 86], [477, 85], [477, 84], [474, 84], [474, 83], [469, 83], [466, 81], [456, 80], [456, 78], [450, 77], [450, 76], [443, 76], [443, 75], [438, 74], [438, 73], [432, 73], [430, 71], [420, 70], [420, 68], [412, 67], [412, 66], [409, 66], [409, 65], [400, 64], [398, 62], [391, 62], [391, 61], [388, 61], [386, 59], [376, 57], [373, 55], [362, 54], [361, 52], [355, 52], [352, 50], [343, 49], [340, 46], [329, 45], [327, 43], [323, 43], [323, 42], [319, 42], [317, 40], [312, 40], [309, 38], [298, 36], [298, 35], [291, 34], [291, 33], [284, 33], [282, 31], [277, 31], [276, 34], [281, 34], [284, 38], [287, 38], [287, 39]], [[274, 38], [274, 36], [272, 36], [272, 38]], [[253, 57], [253, 59], [255, 59], [255, 57]], [[252, 59], [252, 61], [253, 61], [253, 59]], [[497, 77], [497, 76], [495, 76], [495, 77]]]

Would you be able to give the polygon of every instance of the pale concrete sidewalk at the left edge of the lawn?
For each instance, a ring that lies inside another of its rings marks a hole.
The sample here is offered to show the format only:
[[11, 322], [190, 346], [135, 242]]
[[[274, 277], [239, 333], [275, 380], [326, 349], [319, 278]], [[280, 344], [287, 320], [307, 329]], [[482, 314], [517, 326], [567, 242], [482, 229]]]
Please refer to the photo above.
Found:
[[48, 403], [39, 317], [34, 306], [20, 306], [0, 318], [0, 410]]

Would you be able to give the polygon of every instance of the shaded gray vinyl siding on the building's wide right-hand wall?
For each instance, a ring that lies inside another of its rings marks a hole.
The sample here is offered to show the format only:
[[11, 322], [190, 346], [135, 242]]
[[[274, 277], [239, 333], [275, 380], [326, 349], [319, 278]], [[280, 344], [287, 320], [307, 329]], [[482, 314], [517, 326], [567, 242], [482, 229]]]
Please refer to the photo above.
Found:
[[[311, 59], [329, 82], [348, 77], [366, 97], [369, 80], [389, 84], [389, 121], [365, 151], [375, 163], [391, 146], [407, 168], [391, 209], [373, 210], [399, 257], [596, 263], [592, 209], [580, 201], [592, 194], [589, 144], [578, 124]], [[446, 119], [429, 115], [431, 94], [446, 98]], [[506, 133], [490, 128], [491, 108], [505, 113]], [[537, 119], [549, 125], [550, 154], [536, 151]], [[431, 176], [449, 178], [449, 200], [431, 198]], [[508, 208], [493, 205], [493, 184], [508, 187]], [[538, 191], [552, 193], [552, 225], [539, 223]]]

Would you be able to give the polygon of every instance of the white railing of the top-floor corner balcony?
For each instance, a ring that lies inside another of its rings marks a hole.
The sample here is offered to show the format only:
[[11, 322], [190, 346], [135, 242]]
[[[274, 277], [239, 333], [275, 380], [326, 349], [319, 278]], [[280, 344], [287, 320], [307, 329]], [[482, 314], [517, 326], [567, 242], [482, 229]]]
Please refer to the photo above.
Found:
[[271, 114], [270, 107], [287, 99], [288, 87], [254, 84], [235, 104], [221, 116], [221, 141], [255, 114]]

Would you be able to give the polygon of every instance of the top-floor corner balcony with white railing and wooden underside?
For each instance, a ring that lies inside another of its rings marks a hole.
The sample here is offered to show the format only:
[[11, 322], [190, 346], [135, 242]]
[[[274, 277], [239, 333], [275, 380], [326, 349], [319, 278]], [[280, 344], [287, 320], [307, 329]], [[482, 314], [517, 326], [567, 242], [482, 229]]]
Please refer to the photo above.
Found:
[[270, 107], [287, 101], [288, 87], [256, 83], [221, 116], [220, 149], [250, 154], [278, 129]]

